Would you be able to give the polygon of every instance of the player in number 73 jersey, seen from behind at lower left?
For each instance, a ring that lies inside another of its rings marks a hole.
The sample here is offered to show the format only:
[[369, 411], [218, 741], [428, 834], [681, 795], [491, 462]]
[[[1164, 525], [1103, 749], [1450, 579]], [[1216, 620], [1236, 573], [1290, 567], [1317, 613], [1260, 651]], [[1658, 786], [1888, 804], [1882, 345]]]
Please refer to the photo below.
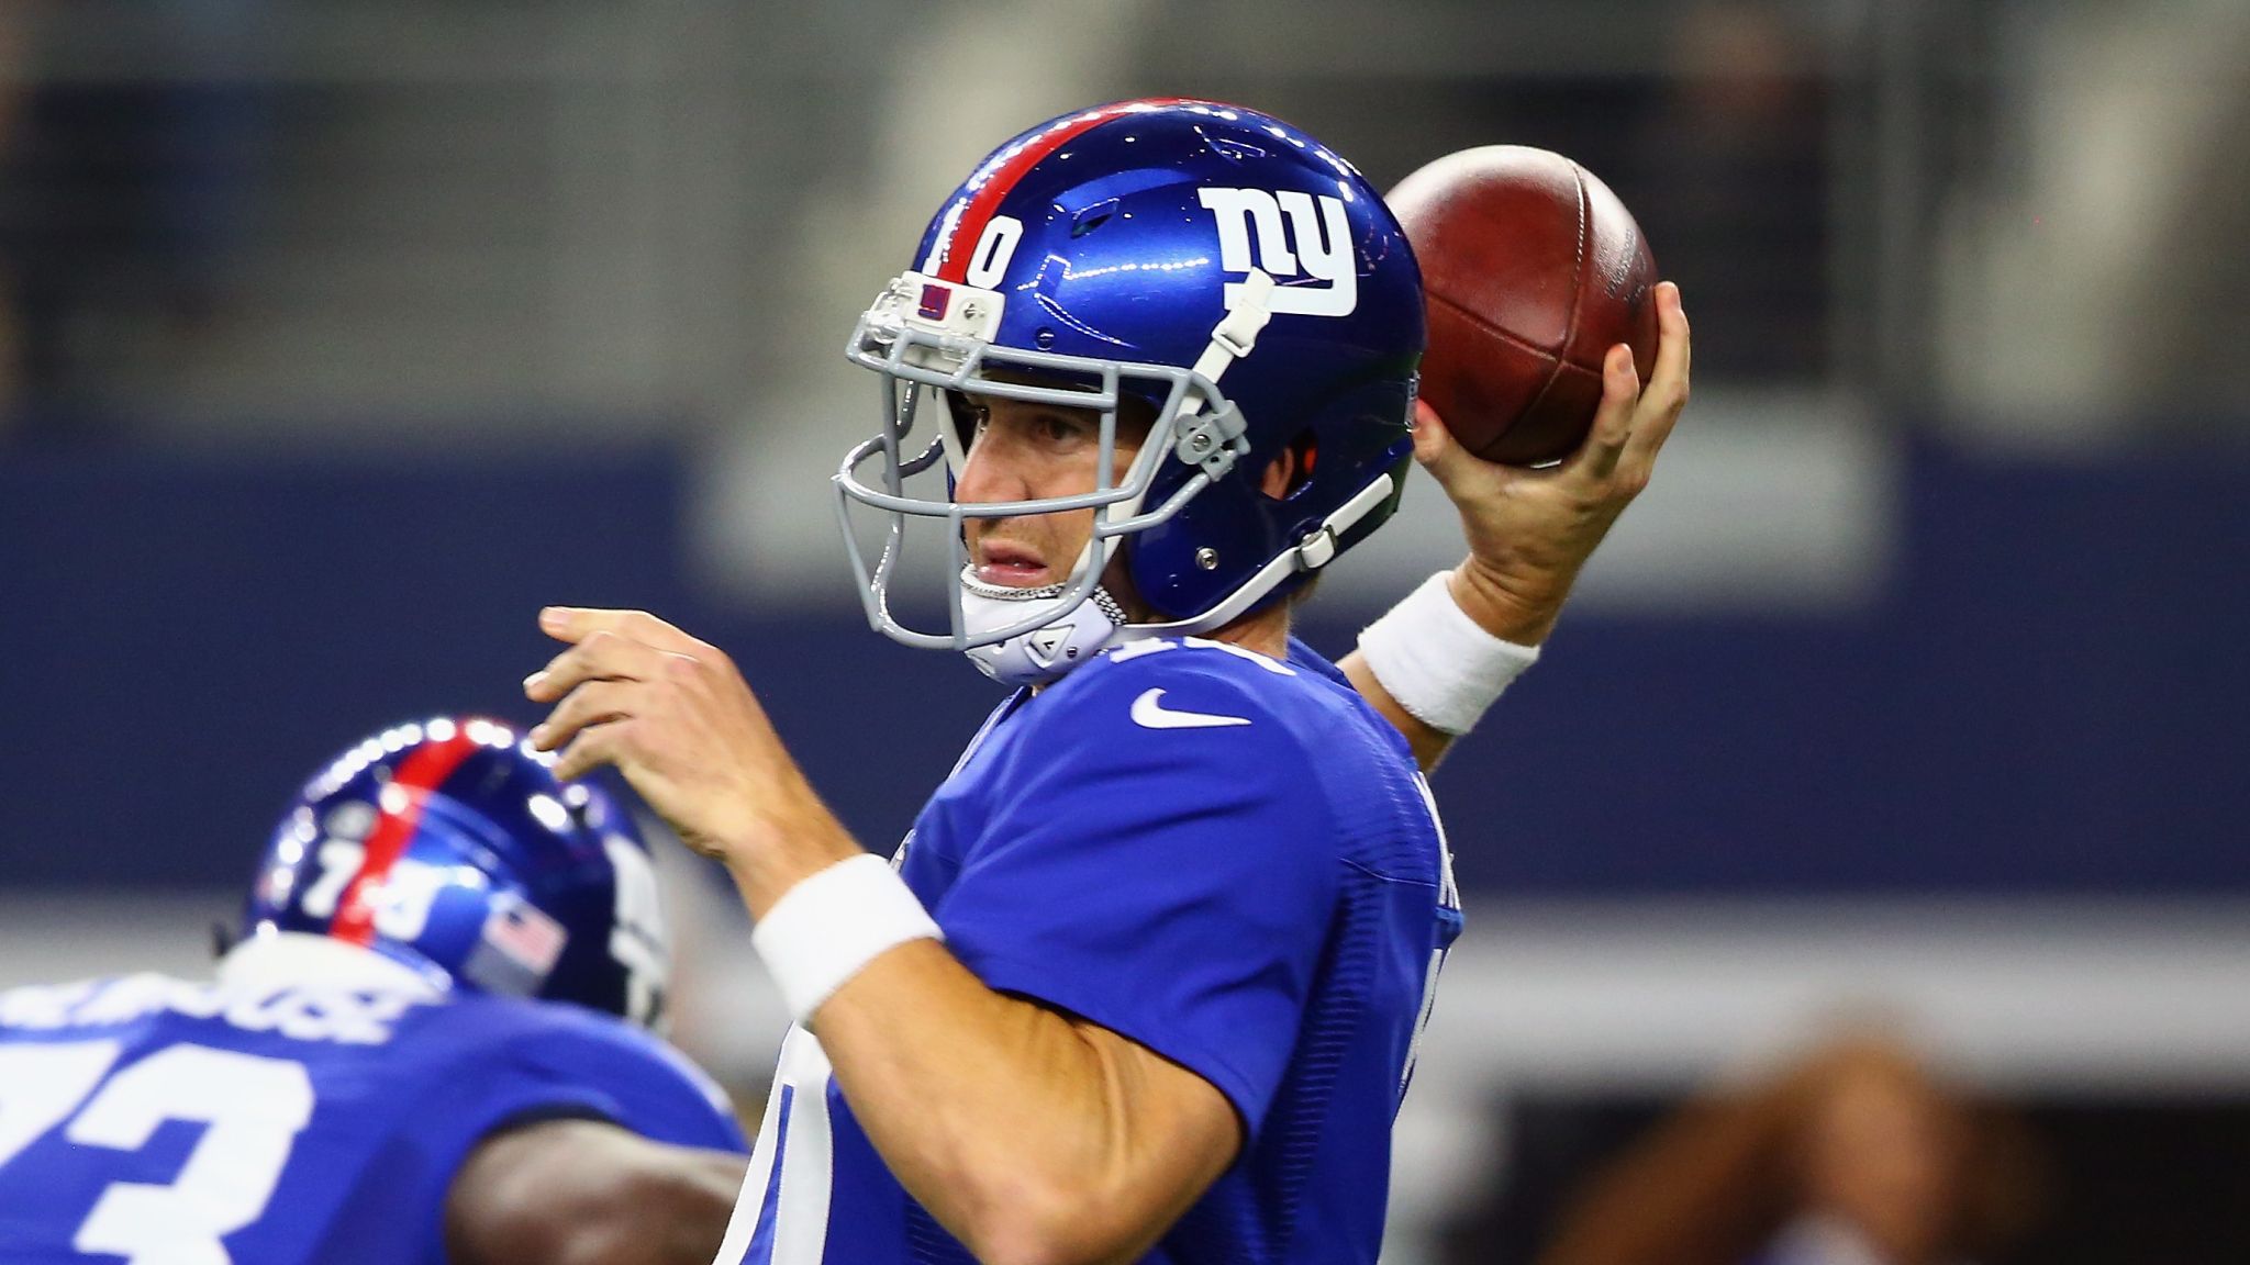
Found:
[[549, 765], [385, 732], [281, 819], [214, 981], [0, 993], [0, 1256], [706, 1263], [742, 1134], [646, 1031], [644, 842]]

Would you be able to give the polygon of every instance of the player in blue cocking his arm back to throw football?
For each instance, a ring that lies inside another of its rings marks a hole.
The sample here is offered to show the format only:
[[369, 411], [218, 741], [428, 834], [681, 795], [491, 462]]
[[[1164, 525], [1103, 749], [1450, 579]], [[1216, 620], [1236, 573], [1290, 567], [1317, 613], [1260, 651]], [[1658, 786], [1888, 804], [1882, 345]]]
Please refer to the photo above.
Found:
[[[1521, 671], [1496, 632], [1544, 637], [1638, 491], [1685, 398], [1663, 313], [1670, 385], [1613, 371], [1586, 450], [1516, 479], [1411, 432], [1413, 252], [1305, 133], [1125, 101], [976, 167], [850, 340], [886, 403], [837, 473], [846, 515], [886, 515], [873, 558], [846, 531], [868, 619], [1017, 687], [891, 864], [727, 655], [540, 614], [569, 648], [524, 684], [533, 741], [724, 860], [796, 1017], [722, 1263], [1375, 1258], [1460, 925], [1415, 756]], [[1438, 576], [1339, 671], [1289, 599], [1390, 515], [1418, 441], [1465, 567], [1537, 583]], [[893, 587], [916, 522], [927, 626]]]

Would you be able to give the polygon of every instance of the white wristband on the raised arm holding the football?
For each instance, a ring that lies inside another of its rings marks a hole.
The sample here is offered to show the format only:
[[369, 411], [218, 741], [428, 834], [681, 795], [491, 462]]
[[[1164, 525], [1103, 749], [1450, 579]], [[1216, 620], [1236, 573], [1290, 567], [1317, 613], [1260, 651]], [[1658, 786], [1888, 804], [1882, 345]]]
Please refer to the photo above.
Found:
[[1415, 720], [1467, 734], [1508, 682], [1539, 662], [1537, 646], [1485, 632], [1454, 601], [1451, 572], [1438, 572], [1359, 632], [1359, 655], [1375, 680]]

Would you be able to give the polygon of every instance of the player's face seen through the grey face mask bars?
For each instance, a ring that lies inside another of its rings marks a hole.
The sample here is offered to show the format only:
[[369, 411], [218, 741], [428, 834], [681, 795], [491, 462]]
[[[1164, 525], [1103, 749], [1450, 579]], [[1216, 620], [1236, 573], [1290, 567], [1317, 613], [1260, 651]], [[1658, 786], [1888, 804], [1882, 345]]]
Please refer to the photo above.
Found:
[[[965, 504], [1091, 493], [1100, 475], [1102, 414], [999, 396], [968, 396], [972, 441], [954, 497]], [[1118, 416], [1112, 486], [1125, 477], [1150, 423]], [[1058, 585], [1094, 536], [1094, 511], [968, 520], [976, 578], [1006, 587]]]

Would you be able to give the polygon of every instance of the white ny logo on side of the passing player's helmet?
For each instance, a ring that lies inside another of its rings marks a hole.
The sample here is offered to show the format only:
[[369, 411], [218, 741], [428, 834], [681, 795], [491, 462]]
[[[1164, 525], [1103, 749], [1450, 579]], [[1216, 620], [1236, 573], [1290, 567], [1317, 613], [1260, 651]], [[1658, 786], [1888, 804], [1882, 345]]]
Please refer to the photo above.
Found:
[[[1296, 315], [1352, 315], [1359, 306], [1359, 268], [1343, 198], [1282, 189], [1197, 189], [1220, 223], [1220, 268], [1262, 268], [1280, 281], [1267, 306]], [[1294, 241], [1294, 245], [1292, 245]], [[1312, 277], [1325, 286], [1289, 281]], [[1226, 308], [1242, 302], [1242, 281], [1226, 284]]]

